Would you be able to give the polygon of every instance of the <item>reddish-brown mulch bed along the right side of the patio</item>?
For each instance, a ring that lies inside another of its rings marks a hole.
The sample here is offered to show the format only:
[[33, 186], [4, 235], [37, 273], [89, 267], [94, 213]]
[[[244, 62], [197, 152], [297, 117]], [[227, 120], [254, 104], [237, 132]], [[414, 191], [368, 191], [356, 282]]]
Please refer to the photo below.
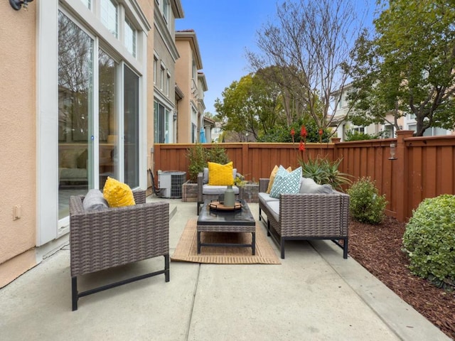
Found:
[[379, 225], [349, 223], [349, 254], [400, 298], [455, 340], [455, 292], [433, 286], [407, 269], [406, 224], [386, 217]]

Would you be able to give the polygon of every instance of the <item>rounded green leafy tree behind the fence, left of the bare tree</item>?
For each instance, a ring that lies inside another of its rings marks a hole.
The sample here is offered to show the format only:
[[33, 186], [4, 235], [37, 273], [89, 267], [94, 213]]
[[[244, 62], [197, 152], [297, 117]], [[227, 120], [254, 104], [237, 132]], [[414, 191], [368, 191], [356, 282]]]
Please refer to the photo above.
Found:
[[249, 74], [232, 82], [222, 95], [223, 102], [215, 99], [215, 110], [225, 122], [225, 131], [248, 133], [257, 139], [282, 117], [279, 88], [262, 79], [260, 74]]

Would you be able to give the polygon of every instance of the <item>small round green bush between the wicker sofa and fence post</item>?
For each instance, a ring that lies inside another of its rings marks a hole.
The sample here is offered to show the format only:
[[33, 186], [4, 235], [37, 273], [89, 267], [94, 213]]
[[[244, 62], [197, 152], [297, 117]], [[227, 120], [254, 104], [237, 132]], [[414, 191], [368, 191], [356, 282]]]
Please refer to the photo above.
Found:
[[375, 182], [360, 178], [347, 191], [350, 196], [350, 215], [359, 222], [379, 224], [384, 219], [387, 205], [385, 195], [379, 195]]

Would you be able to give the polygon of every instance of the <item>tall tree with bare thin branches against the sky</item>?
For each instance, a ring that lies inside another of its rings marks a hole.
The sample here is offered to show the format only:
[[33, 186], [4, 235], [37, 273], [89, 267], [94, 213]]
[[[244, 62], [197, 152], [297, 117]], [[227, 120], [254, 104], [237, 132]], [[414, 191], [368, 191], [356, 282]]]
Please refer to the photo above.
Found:
[[292, 108], [297, 118], [307, 112], [320, 128], [331, 124], [333, 92], [346, 83], [350, 50], [362, 26], [357, 13], [353, 1], [285, 1], [277, 6], [277, 19], [258, 31], [261, 53], [247, 57], [254, 70], [273, 65], [281, 72], [288, 125]]

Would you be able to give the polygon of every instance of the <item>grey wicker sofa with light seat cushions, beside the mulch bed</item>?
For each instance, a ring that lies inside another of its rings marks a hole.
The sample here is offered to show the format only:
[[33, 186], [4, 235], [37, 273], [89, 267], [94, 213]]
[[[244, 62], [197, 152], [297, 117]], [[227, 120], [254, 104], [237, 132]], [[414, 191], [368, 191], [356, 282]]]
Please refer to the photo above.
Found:
[[[281, 194], [279, 199], [266, 193], [269, 178], [259, 179], [259, 220], [267, 215], [267, 235], [281, 249], [291, 239], [331, 239], [343, 248], [348, 258], [349, 195], [338, 191], [331, 194]], [[343, 240], [343, 244], [340, 241]]]

